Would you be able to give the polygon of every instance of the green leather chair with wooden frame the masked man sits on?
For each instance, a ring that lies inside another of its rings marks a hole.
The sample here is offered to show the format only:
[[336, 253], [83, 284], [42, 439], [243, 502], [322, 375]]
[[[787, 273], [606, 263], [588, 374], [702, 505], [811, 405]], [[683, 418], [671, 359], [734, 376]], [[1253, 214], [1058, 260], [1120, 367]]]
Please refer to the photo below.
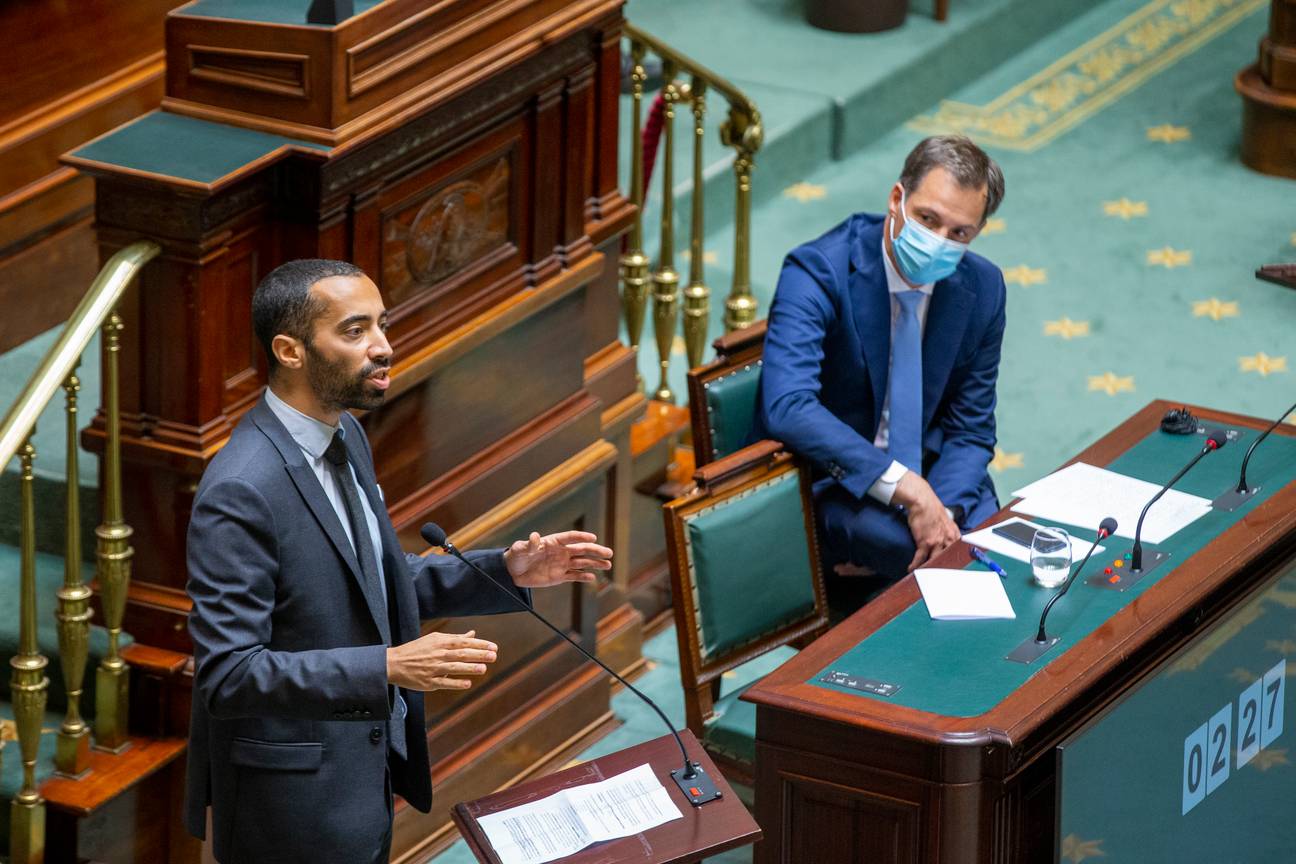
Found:
[[688, 370], [693, 464], [699, 468], [746, 443], [761, 381], [765, 321], [726, 333], [712, 347], [715, 359]]

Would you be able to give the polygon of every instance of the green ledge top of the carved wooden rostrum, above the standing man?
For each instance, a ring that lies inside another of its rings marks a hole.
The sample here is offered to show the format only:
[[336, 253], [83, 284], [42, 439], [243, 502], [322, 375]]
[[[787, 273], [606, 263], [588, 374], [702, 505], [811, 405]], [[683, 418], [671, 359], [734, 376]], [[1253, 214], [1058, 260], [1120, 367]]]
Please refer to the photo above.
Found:
[[329, 152], [323, 144], [150, 111], [73, 150], [71, 157], [74, 162], [211, 185], [288, 146]]

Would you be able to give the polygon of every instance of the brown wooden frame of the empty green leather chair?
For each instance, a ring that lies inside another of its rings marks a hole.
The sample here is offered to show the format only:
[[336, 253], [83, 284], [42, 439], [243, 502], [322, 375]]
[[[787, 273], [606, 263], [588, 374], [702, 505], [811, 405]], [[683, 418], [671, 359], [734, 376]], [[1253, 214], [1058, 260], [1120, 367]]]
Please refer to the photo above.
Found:
[[[689, 579], [688, 548], [684, 519], [699, 510], [745, 492], [761, 483], [775, 479], [788, 472], [800, 469], [801, 504], [810, 549], [810, 573], [814, 579], [814, 610], [806, 618], [785, 624], [761, 639], [735, 648], [734, 650], [709, 659], [702, 658], [697, 639], [697, 608], [693, 587]], [[670, 584], [674, 592], [675, 637], [679, 642], [679, 676], [684, 687], [684, 714], [688, 728], [701, 741], [702, 732], [715, 712], [719, 698], [721, 679], [724, 672], [746, 663], [781, 645], [801, 648], [823, 633], [828, 627], [828, 602], [823, 587], [819, 562], [819, 543], [814, 525], [810, 477], [793, 456], [783, 451], [781, 444], [763, 440], [745, 447], [719, 461], [697, 469], [693, 475], [696, 487], [688, 494], [665, 504], [662, 513], [666, 521], [666, 549], [670, 562]], [[735, 764], [723, 754], [713, 753], [717, 764], [726, 769], [739, 782], [750, 784], [746, 768]]]

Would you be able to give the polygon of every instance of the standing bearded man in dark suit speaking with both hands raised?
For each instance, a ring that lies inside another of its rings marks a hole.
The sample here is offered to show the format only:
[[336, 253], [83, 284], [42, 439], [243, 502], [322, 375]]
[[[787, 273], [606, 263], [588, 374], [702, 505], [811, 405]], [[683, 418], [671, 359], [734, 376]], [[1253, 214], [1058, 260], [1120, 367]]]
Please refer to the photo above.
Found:
[[[185, 821], [203, 837], [211, 806], [223, 864], [386, 861], [391, 793], [432, 807], [421, 693], [468, 689], [496, 654], [473, 632], [420, 637], [420, 618], [515, 609], [455, 558], [400, 549], [347, 413], [382, 404], [386, 317], [343, 262], [289, 262], [253, 297], [270, 386], [203, 474], [188, 536]], [[469, 557], [529, 601], [609, 569], [596, 540]]]

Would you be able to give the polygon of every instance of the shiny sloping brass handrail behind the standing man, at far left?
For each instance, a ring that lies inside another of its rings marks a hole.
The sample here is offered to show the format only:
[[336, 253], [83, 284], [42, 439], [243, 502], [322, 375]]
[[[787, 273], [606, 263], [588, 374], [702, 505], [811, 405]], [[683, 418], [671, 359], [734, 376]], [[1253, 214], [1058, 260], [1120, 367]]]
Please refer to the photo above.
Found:
[[86, 346], [111, 315], [126, 286], [159, 251], [162, 247], [153, 241], [141, 240], [121, 250], [104, 264], [104, 269], [95, 277], [86, 297], [67, 319], [58, 341], [45, 352], [40, 365], [31, 373], [27, 386], [18, 394], [17, 402], [0, 424], [0, 472], [9, 465], [9, 460], [27, 440], [40, 412], [80, 363]]

